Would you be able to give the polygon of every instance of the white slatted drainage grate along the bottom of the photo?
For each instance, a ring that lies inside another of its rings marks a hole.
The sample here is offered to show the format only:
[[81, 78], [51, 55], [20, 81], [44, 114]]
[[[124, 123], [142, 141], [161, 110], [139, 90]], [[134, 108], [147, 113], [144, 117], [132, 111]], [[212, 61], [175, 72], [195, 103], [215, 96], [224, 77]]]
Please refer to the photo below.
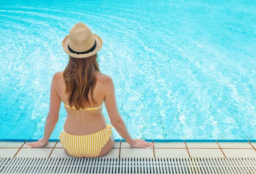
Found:
[[256, 174], [256, 158], [0, 158], [0, 174]]

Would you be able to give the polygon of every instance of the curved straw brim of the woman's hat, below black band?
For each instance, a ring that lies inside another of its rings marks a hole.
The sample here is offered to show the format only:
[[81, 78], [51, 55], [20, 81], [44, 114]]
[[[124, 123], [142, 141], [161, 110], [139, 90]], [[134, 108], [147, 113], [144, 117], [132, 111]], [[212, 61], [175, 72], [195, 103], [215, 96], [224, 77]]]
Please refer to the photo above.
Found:
[[76, 54], [76, 53], [71, 53], [68, 48], [67, 48], [67, 44], [68, 44], [68, 35], [63, 39], [63, 41], [61, 42], [62, 44], [62, 47], [63, 47], [63, 50], [70, 56], [72, 57], [75, 57], [75, 58], [85, 58], [85, 57], [89, 57], [89, 56], [92, 56], [93, 54], [96, 54], [101, 48], [102, 48], [102, 39], [96, 35], [96, 34], [93, 34], [94, 35], [94, 38], [96, 40], [96, 48], [90, 52], [90, 53], [86, 53], [86, 54]]

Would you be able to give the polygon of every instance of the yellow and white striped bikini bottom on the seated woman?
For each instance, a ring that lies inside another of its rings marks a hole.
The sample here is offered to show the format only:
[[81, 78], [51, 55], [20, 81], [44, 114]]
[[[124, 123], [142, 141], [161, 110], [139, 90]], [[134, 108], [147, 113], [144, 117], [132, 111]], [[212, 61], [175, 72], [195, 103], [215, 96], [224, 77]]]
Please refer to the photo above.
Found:
[[62, 131], [59, 138], [63, 148], [72, 157], [98, 157], [112, 134], [111, 127], [107, 124], [104, 129], [90, 135], [71, 135]]

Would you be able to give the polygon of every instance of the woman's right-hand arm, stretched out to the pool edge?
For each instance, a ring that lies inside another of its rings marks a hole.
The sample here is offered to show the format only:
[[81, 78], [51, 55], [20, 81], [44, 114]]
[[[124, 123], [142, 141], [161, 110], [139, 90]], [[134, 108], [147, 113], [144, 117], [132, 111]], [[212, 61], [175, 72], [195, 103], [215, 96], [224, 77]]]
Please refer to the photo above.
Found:
[[119, 114], [116, 105], [116, 95], [113, 80], [109, 77], [105, 83], [105, 106], [112, 126], [125, 139], [125, 141], [133, 147], [148, 148], [146, 146], [154, 146], [154, 143], [146, 142], [145, 140], [133, 139], [128, 133], [125, 122]]

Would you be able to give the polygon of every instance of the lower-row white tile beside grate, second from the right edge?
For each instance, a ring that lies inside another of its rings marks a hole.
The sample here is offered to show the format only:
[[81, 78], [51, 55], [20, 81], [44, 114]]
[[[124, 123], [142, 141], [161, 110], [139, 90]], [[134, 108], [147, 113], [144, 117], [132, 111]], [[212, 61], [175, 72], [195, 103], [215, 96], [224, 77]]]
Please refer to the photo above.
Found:
[[221, 149], [189, 149], [190, 157], [225, 157]]

